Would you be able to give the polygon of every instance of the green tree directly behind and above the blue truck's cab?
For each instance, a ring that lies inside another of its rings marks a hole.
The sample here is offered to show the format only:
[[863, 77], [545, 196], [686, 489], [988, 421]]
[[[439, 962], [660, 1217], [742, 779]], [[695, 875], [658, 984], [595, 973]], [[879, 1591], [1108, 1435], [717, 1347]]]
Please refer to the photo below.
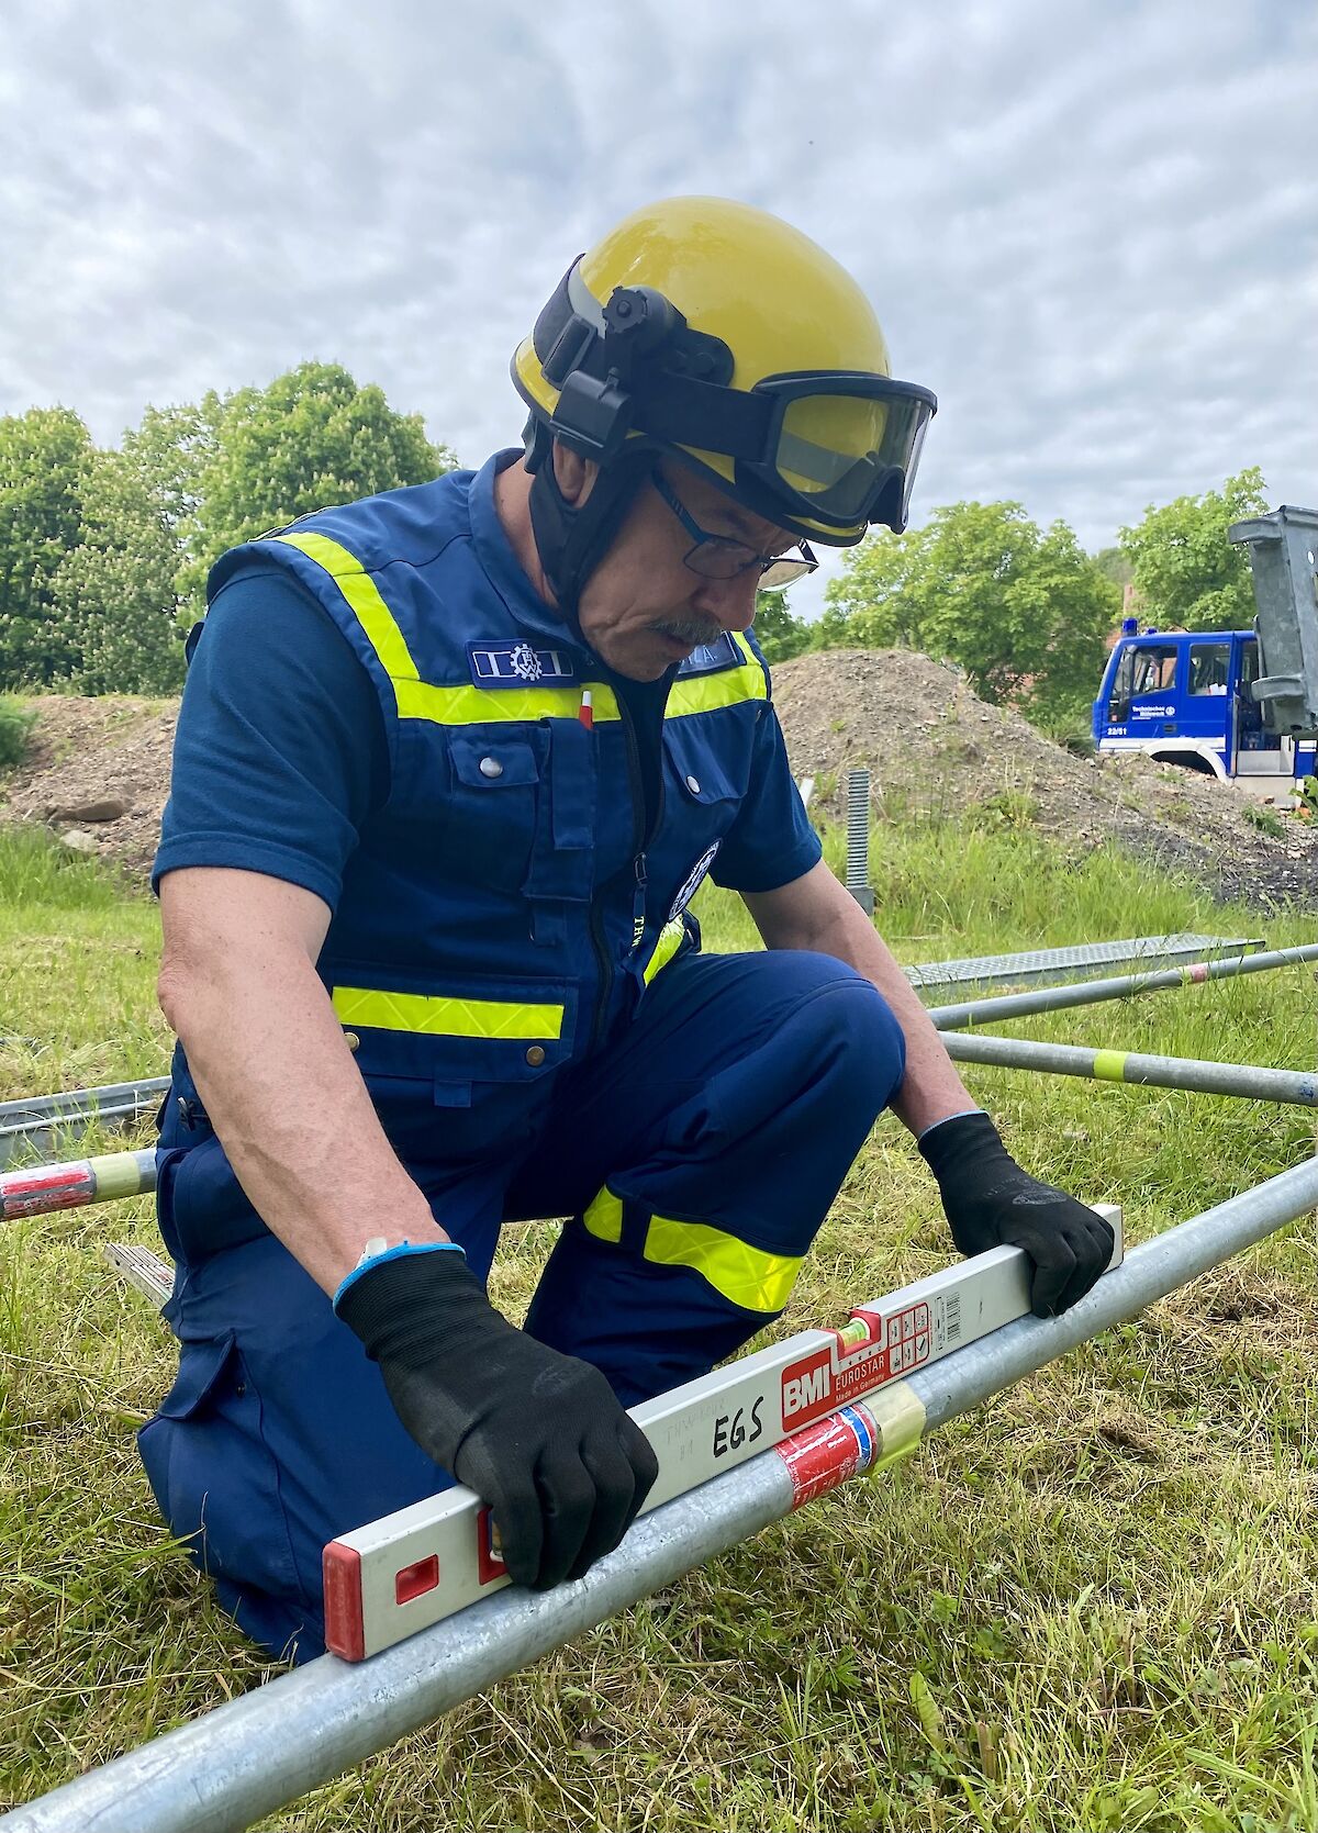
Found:
[[1122, 554], [1151, 623], [1184, 631], [1247, 631], [1254, 623], [1254, 587], [1245, 548], [1226, 539], [1232, 522], [1267, 511], [1258, 466], [1228, 477], [1203, 497], [1177, 497], [1122, 528]]

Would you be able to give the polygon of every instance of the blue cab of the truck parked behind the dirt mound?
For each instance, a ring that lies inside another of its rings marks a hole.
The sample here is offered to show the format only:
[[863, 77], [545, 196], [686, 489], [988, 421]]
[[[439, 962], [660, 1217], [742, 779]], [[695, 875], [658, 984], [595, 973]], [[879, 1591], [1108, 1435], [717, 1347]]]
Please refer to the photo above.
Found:
[[1094, 700], [1094, 744], [1289, 794], [1314, 774], [1314, 741], [1269, 731], [1258, 678], [1254, 631], [1140, 631], [1127, 618]]

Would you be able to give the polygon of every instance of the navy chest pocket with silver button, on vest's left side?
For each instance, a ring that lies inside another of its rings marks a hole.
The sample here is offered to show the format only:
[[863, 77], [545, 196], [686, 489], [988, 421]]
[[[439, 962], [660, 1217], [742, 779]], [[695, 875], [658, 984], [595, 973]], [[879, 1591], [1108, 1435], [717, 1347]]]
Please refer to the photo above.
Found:
[[526, 884], [544, 785], [533, 737], [504, 737], [497, 728], [449, 739], [444, 845], [455, 871], [500, 891]]

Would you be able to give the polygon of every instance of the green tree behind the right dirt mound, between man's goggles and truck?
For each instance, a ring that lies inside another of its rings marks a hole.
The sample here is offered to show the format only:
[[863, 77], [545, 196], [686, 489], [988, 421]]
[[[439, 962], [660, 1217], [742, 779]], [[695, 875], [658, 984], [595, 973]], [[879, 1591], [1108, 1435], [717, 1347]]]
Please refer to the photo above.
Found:
[[955, 502], [906, 535], [871, 535], [827, 592], [823, 645], [900, 643], [957, 662], [986, 700], [1050, 715], [1093, 698], [1120, 609], [1065, 522], [1019, 502]]

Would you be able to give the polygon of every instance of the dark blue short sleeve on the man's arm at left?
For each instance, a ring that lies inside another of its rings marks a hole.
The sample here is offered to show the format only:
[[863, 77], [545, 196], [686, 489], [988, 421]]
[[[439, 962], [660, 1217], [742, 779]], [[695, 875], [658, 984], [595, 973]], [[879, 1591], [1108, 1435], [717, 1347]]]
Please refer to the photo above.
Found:
[[227, 865], [334, 909], [387, 785], [383, 713], [346, 636], [282, 570], [238, 574], [187, 673], [152, 887], [180, 867]]

